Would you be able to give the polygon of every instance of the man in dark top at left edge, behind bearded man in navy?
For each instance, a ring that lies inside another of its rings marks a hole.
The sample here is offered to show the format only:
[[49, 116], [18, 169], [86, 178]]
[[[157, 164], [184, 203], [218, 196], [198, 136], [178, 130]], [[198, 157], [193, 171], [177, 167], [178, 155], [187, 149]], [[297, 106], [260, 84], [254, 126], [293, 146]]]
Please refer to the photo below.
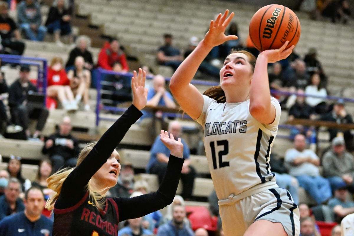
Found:
[[4, 196], [0, 197], [0, 220], [16, 212], [24, 210], [22, 200], [18, 197], [21, 193], [21, 183], [16, 178], [8, 180]]

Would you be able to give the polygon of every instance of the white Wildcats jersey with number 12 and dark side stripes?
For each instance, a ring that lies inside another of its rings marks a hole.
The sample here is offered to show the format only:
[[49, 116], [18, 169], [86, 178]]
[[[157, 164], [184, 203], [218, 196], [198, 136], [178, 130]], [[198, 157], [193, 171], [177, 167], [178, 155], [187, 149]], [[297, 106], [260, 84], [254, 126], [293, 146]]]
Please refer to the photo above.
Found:
[[258, 184], [275, 183], [269, 155], [278, 130], [279, 102], [271, 98], [275, 120], [265, 125], [253, 118], [250, 100], [217, 103], [204, 96], [204, 106], [196, 120], [204, 128], [205, 153], [219, 200], [238, 195]]

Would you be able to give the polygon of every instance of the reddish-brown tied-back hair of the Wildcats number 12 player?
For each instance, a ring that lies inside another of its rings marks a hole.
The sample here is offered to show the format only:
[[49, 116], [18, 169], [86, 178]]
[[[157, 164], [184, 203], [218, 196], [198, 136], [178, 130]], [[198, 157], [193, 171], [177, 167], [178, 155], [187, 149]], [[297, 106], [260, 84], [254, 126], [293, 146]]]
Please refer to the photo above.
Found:
[[[252, 53], [250, 53], [249, 51], [246, 51], [246, 50], [234, 50], [234, 49], [231, 50], [230, 54], [233, 54], [233, 53], [245, 54], [249, 59], [249, 62], [252, 67], [252, 71], [255, 70], [257, 58], [255, 56], [253, 56]], [[210, 97], [212, 99], [215, 99], [217, 103], [225, 103], [226, 102], [225, 92], [222, 90], [220, 85], [212, 86], [212, 87], [208, 88], [207, 90], [205, 90], [203, 95]]]

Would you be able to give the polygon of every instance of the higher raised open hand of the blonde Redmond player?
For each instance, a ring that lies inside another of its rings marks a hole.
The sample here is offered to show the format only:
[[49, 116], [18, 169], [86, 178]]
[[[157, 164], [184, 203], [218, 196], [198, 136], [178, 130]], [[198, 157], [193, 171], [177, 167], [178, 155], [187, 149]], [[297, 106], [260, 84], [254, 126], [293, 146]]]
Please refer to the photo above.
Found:
[[142, 110], [145, 107], [148, 98], [148, 89], [145, 88], [145, 80], [145, 70], [139, 68], [138, 74], [135, 70], [133, 71], [131, 82], [133, 92], [133, 105], [139, 110]]

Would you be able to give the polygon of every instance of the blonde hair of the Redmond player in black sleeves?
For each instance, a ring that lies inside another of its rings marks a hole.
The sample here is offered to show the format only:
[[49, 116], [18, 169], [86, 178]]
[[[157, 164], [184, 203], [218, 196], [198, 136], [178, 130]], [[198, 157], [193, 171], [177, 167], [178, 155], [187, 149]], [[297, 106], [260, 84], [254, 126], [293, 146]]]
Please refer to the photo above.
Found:
[[[84, 149], [81, 150], [79, 157], [78, 157], [78, 163], [76, 164], [76, 167], [80, 165], [80, 163], [85, 159], [85, 157], [89, 154], [89, 152], [92, 150], [93, 146], [96, 145], [97, 142], [92, 142], [89, 143], [85, 146]], [[76, 168], [74, 167], [74, 168]], [[54, 193], [50, 196], [50, 198], [47, 200], [47, 203], [45, 205], [45, 208], [48, 210], [52, 210], [54, 208], [55, 201], [58, 199], [59, 194], [62, 190], [63, 183], [65, 179], [68, 177], [68, 175], [73, 171], [74, 168], [65, 168], [57, 171], [51, 177], [47, 179], [48, 182], [48, 188], [54, 191]], [[106, 194], [100, 194], [99, 192], [102, 192], [103, 190], [107, 189], [99, 189], [99, 190], [94, 190], [92, 188], [91, 180], [89, 183], [86, 185], [86, 190], [89, 191], [89, 195], [92, 198], [93, 205], [98, 206], [99, 208], [102, 209], [102, 202], [101, 200], [106, 196]]]

